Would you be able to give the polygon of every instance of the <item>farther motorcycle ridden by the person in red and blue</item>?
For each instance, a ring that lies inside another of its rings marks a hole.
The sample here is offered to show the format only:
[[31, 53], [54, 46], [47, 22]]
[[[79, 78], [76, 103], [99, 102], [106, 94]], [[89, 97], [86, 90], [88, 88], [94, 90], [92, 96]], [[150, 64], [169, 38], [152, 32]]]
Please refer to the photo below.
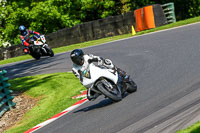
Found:
[[29, 50], [30, 55], [36, 60], [39, 60], [41, 56], [54, 56], [53, 50], [48, 46], [48, 44], [46, 44], [44, 35], [41, 35], [37, 39], [35, 39], [35, 37], [31, 37]]

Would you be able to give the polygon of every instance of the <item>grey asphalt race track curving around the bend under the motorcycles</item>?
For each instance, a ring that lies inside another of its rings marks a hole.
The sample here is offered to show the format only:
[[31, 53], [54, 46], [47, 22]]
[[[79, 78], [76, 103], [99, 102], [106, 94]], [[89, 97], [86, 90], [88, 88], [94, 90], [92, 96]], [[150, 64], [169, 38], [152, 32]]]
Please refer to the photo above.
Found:
[[[200, 23], [84, 49], [138, 84], [120, 102], [99, 97], [36, 133], [173, 133], [200, 114]], [[71, 71], [69, 53], [2, 65], [10, 78]]]

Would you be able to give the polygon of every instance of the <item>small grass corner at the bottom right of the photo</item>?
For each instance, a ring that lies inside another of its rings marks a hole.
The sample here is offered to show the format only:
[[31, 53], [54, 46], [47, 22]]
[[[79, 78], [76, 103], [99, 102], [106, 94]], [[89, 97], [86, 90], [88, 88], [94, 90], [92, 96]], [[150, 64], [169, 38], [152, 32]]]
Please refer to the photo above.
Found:
[[184, 130], [177, 131], [177, 133], [200, 133], [200, 121]]

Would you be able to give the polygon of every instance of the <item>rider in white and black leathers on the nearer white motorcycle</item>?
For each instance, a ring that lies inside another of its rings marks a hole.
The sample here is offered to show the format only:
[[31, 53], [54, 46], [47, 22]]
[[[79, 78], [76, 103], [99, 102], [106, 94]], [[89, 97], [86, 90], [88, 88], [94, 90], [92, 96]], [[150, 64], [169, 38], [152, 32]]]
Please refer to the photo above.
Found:
[[[97, 62], [98, 66], [103, 65], [108, 69], [117, 70], [119, 73], [119, 80], [117, 85], [120, 89], [122, 89], [122, 81], [129, 78], [126, 72], [114, 66], [110, 59], [103, 59], [102, 57], [94, 56], [92, 54], [84, 54], [84, 52], [81, 49], [73, 50], [70, 54], [70, 57], [73, 62], [72, 72], [80, 81], [83, 80], [81, 76], [83, 70], [87, 69], [89, 67], [89, 64], [92, 62]], [[90, 90], [87, 91], [88, 100], [94, 100], [98, 96], [99, 94], [96, 92]]]

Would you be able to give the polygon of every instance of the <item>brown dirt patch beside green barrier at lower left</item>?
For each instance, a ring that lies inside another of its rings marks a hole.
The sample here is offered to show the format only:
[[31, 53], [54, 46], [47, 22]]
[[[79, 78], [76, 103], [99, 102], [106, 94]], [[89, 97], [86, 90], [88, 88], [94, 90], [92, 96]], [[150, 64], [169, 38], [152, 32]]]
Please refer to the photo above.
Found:
[[15, 108], [7, 111], [2, 117], [0, 117], [0, 133], [20, 121], [24, 114], [32, 109], [39, 100], [23, 93], [15, 93], [14, 96], [13, 102], [16, 103]]

